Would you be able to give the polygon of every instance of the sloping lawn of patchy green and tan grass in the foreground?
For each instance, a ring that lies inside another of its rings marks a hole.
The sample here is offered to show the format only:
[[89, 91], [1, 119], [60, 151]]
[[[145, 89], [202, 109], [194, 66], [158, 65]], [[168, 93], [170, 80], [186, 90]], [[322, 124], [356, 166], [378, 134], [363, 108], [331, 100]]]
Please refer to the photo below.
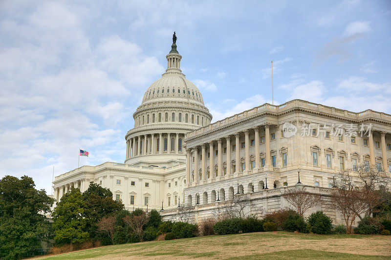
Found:
[[261, 232], [110, 245], [45, 260], [76, 259], [391, 259], [391, 236]]

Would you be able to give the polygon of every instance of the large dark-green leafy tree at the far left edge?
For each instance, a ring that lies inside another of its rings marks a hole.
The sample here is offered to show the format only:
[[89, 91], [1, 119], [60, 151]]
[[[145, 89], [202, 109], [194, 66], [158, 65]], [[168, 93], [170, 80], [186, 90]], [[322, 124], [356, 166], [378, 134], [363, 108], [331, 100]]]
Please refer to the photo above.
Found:
[[0, 180], [0, 259], [20, 258], [50, 238], [44, 213], [54, 200], [35, 189], [32, 178], [5, 176]]

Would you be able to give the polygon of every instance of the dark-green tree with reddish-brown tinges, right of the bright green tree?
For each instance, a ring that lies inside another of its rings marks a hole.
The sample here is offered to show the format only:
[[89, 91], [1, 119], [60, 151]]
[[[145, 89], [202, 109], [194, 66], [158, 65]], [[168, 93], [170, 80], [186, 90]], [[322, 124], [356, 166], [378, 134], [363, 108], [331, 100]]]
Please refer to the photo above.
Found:
[[105, 235], [97, 232], [97, 223], [104, 217], [116, 215], [124, 209], [124, 204], [113, 200], [113, 194], [109, 189], [92, 182], [83, 193], [83, 200], [85, 202], [83, 216], [87, 220], [86, 231], [91, 239], [102, 239], [101, 237]]

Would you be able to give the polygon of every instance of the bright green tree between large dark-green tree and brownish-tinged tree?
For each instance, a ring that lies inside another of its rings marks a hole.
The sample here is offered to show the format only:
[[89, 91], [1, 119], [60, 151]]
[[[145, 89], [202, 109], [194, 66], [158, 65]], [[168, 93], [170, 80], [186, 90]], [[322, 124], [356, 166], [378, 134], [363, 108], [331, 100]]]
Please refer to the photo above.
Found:
[[71, 188], [53, 210], [53, 230], [56, 243], [80, 243], [88, 239], [87, 220], [83, 217], [86, 203], [77, 188]]

